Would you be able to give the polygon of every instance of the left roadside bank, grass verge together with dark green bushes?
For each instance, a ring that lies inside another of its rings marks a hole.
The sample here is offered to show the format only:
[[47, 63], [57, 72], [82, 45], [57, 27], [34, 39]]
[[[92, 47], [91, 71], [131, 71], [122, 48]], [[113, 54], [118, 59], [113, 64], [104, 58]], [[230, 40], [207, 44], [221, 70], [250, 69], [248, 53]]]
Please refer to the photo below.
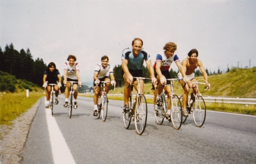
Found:
[[[26, 97], [29, 89], [29, 97]], [[32, 107], [43, 90], [37, 85], [20, 79], [5, 72], [0, 72], [0, 124], [10, 125], [21, 113]]]

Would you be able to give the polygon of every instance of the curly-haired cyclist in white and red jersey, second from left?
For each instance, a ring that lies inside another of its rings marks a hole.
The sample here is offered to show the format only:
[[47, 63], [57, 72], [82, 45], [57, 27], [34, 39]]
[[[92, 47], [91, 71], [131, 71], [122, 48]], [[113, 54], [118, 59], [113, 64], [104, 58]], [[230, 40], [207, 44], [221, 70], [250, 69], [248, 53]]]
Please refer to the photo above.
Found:
[[75, 81], [76, 83], [73, 83], [73, 91], [74, 91], [74, 109], [77, 108], [77, 84], [82, 85], [82, 82], [80, 80], [80, 65], [79, 63], [76, 63], [76, 56], [70, 54], [67, 58], [68, 62], [64, 63], [63, 69], [64, 69], [64, 85], [65, 85], [65, 104], [64, 107], [68, 107], [68, 97], [70, 94], [70, 86], [71, 83], [67, 81]]

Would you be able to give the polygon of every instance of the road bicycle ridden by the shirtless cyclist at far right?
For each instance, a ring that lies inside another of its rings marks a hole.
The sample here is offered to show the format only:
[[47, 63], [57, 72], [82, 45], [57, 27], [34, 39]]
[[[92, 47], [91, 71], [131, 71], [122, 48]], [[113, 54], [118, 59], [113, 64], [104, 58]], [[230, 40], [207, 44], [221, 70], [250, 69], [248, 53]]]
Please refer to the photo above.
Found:
[[[193, 121], [196, 125], [196, 127], [202, 127], [204, 125], [205, 122], [205, 117], [206, 117], [206, 106], [205, 106], [205, 102], [204, 102], [204, 98], [202, 98], [202, 94], [199, 92], [199, 86], [198, 84], [202, 84], [202, 85], [206, 85], [206, 81], [205, 82], [199, 82], [199, 81], [205, 81], [204, 79], [198, 79], [198, 81], [192, 81], [192, 88], [193, 91], [193, 96], [194, 99], [192, 99], [192, 103], [190, 104], [190, 107], [188, 106], [188, 102], [190, 102], [190, 100], [187, 102], [187, 108], [185, 110], [187, 110], [187, 112], [190, 114], [191, 112], [193, 113]], [[205, 89], [205, 91], [209, 89], [208, 87]], [[182, 96], [180, 96], [180, 99], [182, 99]], [[185, 123], [186, 121], [186, 117], [183, 121], [183, 123]]]

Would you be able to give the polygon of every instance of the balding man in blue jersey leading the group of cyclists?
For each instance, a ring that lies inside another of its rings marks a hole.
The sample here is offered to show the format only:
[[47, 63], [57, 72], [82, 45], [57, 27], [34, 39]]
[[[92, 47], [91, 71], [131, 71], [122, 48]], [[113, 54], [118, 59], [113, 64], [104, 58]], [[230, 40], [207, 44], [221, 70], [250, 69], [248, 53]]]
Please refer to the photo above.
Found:
[[[143, 41], [141, 40], [141, 38], [134, 38], [132, 41], [132, 48], [124, 49], [122, 53], [121, 67], [123, 69], [122, 74], [125, 82], [123, 112], [126, 112], [127, 110], [129, 110], [128, 102], [129, 102], [129, 95], [131, 92], [130, 83], [132, 83], [133, 81], [135, 81], [134, 83], [138, 83], [136, 79], [133, 79], [133, 76], [143, 77], [142, 67], [143, 67], [144, 60], [146, 62], [146, 65], [148, 66], [152, 83], [156, 82], [150, 55], [145, 52], [142, 46], [143, 46]], [[129, 87], [127, 88], [127, 86]], [[143, 87], [144, 87], [144, 81], [141, 80], [141, 89], [142, 89], [141, 92], [143, 92]], [[138, 90], [138, 86], [135, 86], [135, 89]]]

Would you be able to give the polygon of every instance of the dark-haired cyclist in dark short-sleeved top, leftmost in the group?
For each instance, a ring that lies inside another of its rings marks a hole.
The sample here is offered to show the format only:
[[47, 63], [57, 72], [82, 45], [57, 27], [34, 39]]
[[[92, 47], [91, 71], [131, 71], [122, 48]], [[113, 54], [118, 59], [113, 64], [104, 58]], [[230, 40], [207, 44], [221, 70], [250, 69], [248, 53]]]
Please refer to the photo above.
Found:
[[46, 101], [45, 107], [49, 108], [49, 101], [50, 101], [50, 92], [51, 92], [51, 85], [48, 83], [55, 83], [54, 91], [55, 91], [55, 104], [58, 104], [58, 94], [59, 89], [61, 88], [61, 75], [58, 69], [56, 69], [56, 65], [54, 62], [49, 63], [45, 73], [43, 75], [43, 88], [46, 88]]

